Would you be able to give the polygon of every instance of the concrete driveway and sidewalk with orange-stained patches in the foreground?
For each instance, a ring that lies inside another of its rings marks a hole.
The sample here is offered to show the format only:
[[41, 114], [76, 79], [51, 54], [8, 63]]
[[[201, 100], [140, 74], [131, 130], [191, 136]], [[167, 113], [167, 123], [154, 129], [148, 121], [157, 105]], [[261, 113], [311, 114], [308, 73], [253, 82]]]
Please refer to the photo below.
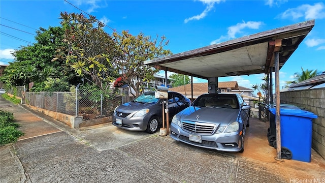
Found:
[[[27, 108], [28, 109], [28, 108]], [[251, 120], [243, 154], [220, 153], [111, 124], [71, 129], [0, 98], [14, 113], [18, 142], [0, 147], [1, 182], [299, 182], [325, 181], [325, 161], [274, 160], [266, 123]]]

